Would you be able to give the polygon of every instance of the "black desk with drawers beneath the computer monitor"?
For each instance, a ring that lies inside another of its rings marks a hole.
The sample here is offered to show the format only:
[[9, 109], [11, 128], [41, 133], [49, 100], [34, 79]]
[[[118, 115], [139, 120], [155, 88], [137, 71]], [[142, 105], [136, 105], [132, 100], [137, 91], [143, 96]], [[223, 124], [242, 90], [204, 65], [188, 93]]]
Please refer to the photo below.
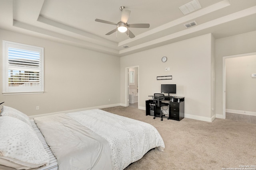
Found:
[[[161, 108], [156, 107], [154, 95], [150, 95], [151, 100], [146, 100], [146, 115], [160, 115]], [[167, 119], [180, 121], [184, 118], [184, 98], [179, 96], [164, 96], [166, 101], [169, 101], [169, 116]]]

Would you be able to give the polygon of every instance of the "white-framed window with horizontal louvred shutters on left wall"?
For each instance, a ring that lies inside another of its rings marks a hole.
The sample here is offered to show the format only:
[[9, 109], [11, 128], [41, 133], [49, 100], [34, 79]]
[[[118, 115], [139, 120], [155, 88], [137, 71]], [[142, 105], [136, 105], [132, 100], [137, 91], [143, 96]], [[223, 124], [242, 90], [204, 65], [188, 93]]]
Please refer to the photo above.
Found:
[[3, 41], [3, 94], [44, 92], [44, 48]]

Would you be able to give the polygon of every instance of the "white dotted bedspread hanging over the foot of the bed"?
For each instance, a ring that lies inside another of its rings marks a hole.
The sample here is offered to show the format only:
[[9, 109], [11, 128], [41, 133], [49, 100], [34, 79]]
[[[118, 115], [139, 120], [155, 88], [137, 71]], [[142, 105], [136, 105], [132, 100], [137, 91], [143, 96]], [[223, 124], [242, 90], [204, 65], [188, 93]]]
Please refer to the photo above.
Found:
[[164, 141], [152, 125], [100, 109], [68, 113], [82, 125], [104, 137], [112, 154], [114, 170], [123, 170], [142, 158], [148, 150], [165, 148]]

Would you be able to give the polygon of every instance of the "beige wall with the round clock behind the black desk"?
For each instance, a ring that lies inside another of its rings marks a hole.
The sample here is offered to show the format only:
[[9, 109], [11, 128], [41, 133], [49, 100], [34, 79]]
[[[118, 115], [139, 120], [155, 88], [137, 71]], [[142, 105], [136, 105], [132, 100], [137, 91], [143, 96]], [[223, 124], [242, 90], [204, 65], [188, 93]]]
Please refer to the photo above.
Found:
[[[139, 66], [139, 109], [161, 84], [177, 84], [176, 96], [185, 96], [185, 117], [212, 121], [212, 35], [202, 35], [121, 57], [121, 104], [126, 102], [126, 67]], [[166, 63], [161, 59], [166, 56]], [[165, 68], [170, 68], [166, 71]], [[156, 80], [172, 75], [172, 80]]]

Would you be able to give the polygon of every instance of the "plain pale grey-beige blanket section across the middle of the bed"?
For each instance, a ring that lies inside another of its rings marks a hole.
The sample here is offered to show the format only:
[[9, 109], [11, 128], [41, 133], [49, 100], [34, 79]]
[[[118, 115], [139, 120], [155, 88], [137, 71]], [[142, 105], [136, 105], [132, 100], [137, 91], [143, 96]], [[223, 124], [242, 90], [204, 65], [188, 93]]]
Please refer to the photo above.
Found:
[[36, 117], [34, 121], [58, 160], [59, 170], [112, 170], [106, 139], [66, 114]]

